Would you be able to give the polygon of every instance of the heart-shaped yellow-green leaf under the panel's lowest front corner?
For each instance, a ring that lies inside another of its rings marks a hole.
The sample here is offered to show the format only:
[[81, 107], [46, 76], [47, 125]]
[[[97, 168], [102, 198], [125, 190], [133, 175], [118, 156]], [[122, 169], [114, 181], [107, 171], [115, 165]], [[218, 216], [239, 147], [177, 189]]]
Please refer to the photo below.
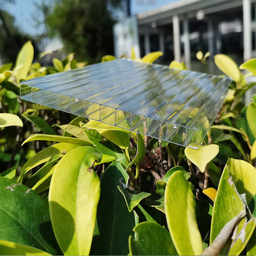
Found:
[[[193, 143], [189, 146], [197, 147], [198, 145]], [[215, 144], [207, 146], [199, 146], [199, 148], [185, 148], [186, 157], [195, 164], [201, 172], [204, 172], [206, 164], [208, 164], [219, 152], [219, 146]]]

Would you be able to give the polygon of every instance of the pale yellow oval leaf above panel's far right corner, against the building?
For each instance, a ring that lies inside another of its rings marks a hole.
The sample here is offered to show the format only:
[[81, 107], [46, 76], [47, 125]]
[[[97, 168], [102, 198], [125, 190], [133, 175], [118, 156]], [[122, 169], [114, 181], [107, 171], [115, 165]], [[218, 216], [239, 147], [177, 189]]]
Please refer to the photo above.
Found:
[[230, 76], [236, 83], [240, 80], [240, 70], [236, 62], [225, 54], [217, 54], [214, 56], [216, 66], [227, 76]]

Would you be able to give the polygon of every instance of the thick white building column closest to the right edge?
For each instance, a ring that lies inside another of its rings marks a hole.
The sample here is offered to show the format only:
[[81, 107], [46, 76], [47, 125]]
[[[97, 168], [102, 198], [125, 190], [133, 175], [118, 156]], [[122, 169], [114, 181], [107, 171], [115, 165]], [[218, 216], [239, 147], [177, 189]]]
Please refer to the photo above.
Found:
[[252, 58], [251, 1], [243, 0], [244, 61]]

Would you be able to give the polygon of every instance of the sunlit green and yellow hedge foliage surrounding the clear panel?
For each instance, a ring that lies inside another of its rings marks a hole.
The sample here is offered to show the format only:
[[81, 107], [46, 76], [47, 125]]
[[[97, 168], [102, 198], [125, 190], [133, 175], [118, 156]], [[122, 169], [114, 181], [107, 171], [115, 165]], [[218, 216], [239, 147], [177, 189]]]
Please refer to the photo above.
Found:
[[21, 79], [86, 64], [32, 59], [27, 42], [0, 67], [0, 254], [255, 255], [254, 84], [230, 58], [215, 56], [234, 82], [198, 150], [20, 100]]

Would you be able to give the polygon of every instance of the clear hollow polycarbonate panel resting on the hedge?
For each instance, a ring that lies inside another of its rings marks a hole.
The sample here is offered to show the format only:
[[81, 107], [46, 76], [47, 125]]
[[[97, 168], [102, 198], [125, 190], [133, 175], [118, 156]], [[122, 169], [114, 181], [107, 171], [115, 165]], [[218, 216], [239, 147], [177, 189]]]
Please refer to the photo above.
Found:
[[182, 146], [199, 146], [231, 82], [119, 59], [23, 81], [20, 98]]

